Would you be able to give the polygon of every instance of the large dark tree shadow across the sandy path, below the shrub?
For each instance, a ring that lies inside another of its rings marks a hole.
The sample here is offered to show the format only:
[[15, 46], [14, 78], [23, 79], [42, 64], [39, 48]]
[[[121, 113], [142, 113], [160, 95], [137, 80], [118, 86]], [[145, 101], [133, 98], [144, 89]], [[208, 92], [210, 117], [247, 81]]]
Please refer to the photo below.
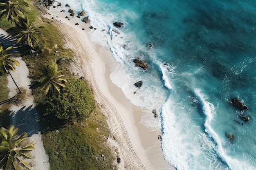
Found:
[[20, 132], [27, 132], [28, 137], [65, 126], [66, 121], [61, 121], [54, 115], [43, 116], [44, 110], [43, 106], [23, 106], [16, 113], [11, 113], [10, 123], [19, 128]]

